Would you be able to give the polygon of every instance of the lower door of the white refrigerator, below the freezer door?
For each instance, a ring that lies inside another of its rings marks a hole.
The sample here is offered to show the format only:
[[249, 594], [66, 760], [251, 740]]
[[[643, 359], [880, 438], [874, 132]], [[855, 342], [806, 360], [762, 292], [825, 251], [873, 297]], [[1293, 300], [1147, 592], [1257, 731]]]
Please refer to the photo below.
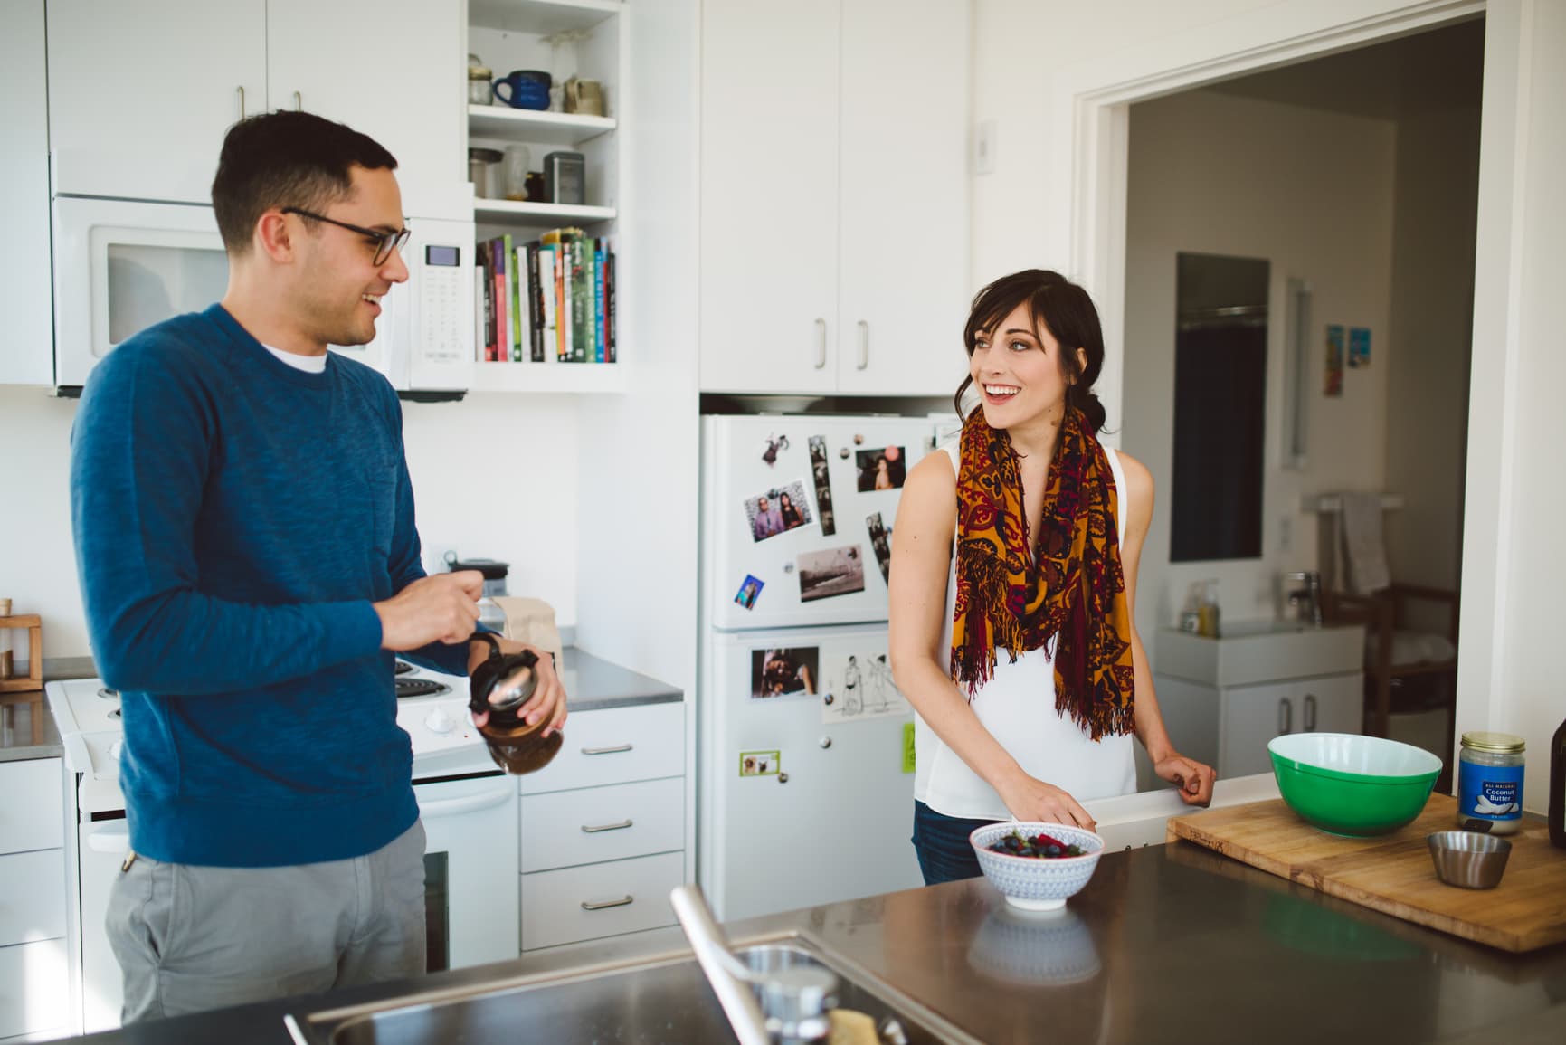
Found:
[[904, 761], [913, 714], [885, 628], [709, 638], [702, 852], [719, 918], [921, 885]]

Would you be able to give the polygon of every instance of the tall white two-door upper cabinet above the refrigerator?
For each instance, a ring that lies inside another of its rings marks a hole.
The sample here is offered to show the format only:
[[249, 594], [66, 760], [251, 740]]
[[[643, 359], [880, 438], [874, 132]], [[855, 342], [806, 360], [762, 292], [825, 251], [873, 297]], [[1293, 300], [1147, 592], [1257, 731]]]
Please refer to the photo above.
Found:
[[968, 67], [963, 0], [705, 5], [703, 390], [957, 387]]

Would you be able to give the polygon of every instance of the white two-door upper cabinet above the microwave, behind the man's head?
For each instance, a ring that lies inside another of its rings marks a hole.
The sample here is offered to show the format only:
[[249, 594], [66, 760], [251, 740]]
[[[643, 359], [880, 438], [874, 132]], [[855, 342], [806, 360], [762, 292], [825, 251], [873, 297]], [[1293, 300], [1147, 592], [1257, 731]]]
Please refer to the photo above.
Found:
[[205, 204], [227, 128], [302, 108], [398, 158], [409, 215], [465, 216], [456, 0], [50, 0], [55, 188]]

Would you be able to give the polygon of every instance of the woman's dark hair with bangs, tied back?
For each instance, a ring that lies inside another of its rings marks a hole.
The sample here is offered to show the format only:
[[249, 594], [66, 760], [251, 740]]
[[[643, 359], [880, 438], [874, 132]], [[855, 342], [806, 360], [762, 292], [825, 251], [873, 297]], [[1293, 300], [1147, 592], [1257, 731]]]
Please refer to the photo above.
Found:
[[[1018, 306], [1027, 306], [1034, 327], [1040, 324], [1060, 342], [1060, 373], [1066, 378], [1066, 406], [1076, 407], [1095, 432], [1102, 431], [1107, 414], [1104, 404], [1093, 395], [1093, 382], [1104, 370], [1104, 331], [1098, 323], [1098, 309], [1087, 291], [1060, 273], [1045, 268], [1027, 268], [994, 280], [974, 295], [968, 326], [963, 327], [963, 346], [974, 354], [974, 342], [980, 334], [993, 331], [1001, 320]], [[1077, 363], [1076, 349], [1087, 356], [1085, 365]], [[963, 378], [952, 396], [952, 406], [963, 417], [963, 392], [972, 384], [972, 376]]]

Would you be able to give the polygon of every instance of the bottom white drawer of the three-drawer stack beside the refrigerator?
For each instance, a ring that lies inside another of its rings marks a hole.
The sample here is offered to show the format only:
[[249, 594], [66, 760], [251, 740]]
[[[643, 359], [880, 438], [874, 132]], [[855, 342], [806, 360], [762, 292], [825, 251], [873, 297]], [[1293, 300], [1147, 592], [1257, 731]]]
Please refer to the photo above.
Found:
[[681, 882], [683, 852], [523, 874], [521, 949], [672, 926], [669, 893]]

